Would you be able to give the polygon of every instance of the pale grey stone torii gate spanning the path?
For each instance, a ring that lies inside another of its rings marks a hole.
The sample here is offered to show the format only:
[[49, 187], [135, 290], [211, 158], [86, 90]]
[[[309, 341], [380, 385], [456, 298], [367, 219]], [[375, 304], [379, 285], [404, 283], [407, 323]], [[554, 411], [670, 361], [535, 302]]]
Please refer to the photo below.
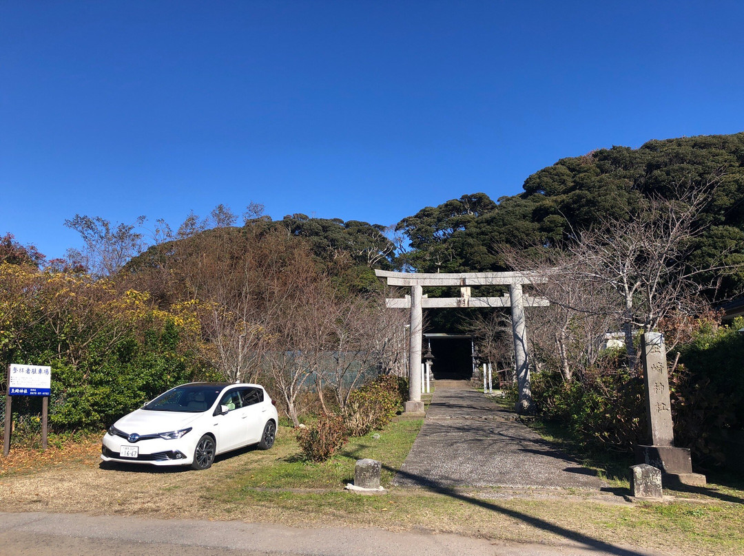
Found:
[[[516, 362], [519, 401], [516, 411], [530, 413], [532, 392], [530, 391], [530, 367], [527, 360], [527, 329], [525, 327], [525, 307], [546, 307], [544, 297], [525, 296], [522, 285], [545, 282], [545, 278], [527, 272], [461, 272], [418, 274], [409, 272], [375, 271], [378, 278], [385, 279], [388, 286], [409, 286], [411, 295], [404, 299], [387, 299], [388, 308], [411, 309], [411, 334], [409, 334], [408, 399], [406, 413], [423, 412], [421, 401], [421, 334], [423, 332], [424, 308], [458, 307], [510, 307], [512, 333], [514, 336], [514, 361]], [[470, 288], [478, 285], [508, 285], [509, 294], [503, 297], [471, 297]], [[432, 298], [423, 296], [426, 286], [459, 286], [460, 297]]]

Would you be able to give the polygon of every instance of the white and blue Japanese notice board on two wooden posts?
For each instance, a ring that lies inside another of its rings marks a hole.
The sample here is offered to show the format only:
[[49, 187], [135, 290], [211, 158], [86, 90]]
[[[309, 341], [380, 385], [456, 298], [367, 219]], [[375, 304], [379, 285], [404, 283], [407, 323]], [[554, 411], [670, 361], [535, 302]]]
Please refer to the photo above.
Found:
[[5, 396], [5, 434], [3, 456], [10, 452], [10, 427], [13, 426], [13, 395], [40, 395], [42, 399], [42, 449], [48, 447], [49, 394], [51, 393], [51, 367], [43, 365], [7, 366], [7, 395]]

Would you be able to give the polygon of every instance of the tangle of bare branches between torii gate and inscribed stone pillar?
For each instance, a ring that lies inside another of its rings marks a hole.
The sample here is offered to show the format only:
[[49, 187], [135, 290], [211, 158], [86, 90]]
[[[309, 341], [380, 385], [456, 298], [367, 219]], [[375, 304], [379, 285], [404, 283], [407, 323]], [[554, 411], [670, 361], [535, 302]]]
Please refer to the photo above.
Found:
[[[589, 230], [572, 230], [565, 250], [536, 250], [542, 259], [504, 252], [513, 267], [548, 277], [536, 291], [551, 302], [544, 320], [533, 319], [533, 349], [570, 381], [599, 355], [606, 332], [622, 328], [629, 366], [635, 367], [635, 332], [650, 332], [665, 319], [700, 314], [708, 308], [701, 295], [711, 283], [704, 274], [734, 271], [727, 250], [694, 265], [696, 239], [705, 233], [702, 214], [710, 204], [720, 173], [705, 184], [685, 182], [673, 198], [652, 196], [638, 210], [607, 218]], [[733, 246], [731, 248], [734, 249]]]

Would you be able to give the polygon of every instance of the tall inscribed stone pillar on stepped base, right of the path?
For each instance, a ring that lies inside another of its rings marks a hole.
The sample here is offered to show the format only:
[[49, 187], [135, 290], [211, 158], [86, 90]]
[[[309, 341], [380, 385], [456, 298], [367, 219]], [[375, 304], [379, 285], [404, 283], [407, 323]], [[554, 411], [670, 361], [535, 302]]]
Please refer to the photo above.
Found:
[[693, 473], [690, 450], [675, 447], [672, 407], [669, 396], [667, 349], [658, 332], [644, 334], [641, 343], [646, 384], [646, 415], [650, 445], [635, 447], [638, 463], [647, 463], [664, 473], [670, 482], [705, 485], [705, 475]]

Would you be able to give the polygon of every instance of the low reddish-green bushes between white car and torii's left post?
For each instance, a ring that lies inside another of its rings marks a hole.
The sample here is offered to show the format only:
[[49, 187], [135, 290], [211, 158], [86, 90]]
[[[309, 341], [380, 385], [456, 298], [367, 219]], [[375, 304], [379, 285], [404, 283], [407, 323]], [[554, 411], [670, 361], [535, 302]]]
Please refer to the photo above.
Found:
[[351, 392], [341, 415], [322, 414], [308, 427], [298, 428], [297, 442], [311, 462], [333, 456], [349, 436], [364, 436], [385, 427], [403, 405], [408, 381], [380, 375]]

